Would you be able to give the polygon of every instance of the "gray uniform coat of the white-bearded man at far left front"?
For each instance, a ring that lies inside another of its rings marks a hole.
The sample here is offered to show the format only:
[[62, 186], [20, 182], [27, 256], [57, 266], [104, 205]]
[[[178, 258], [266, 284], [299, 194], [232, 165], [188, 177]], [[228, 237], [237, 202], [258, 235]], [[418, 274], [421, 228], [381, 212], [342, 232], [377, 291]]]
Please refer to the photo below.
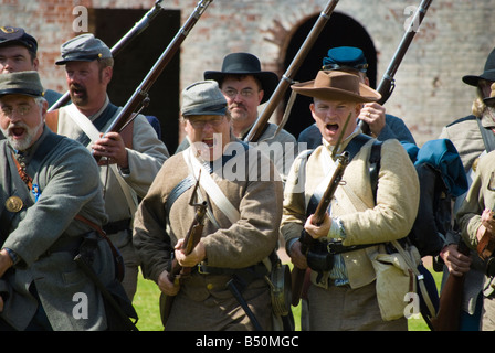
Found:
[[[29, 162], [32, 153], [43, 139], [54, 136], [45, 127], [28, 157], [28, 174], [41, 191], [35, 203], [33, 194], [27, 194], [28, 186], [20, 179], [15, 164], [8, 160], [12, 150], [7, 140], [0, 142], [0, 215], [2, 235], [7, 237], [2, 247], [12, 249], [20, 258], [0, 278], [0, 292], [6, 299], [0, 317], [17, 330], [24, 330], [38, 308], [29, 291], [34, 285], [54, 330], [104, 330], [102, 297], [73, 260], [74, 253], [69, 250], [77, 249], [82, 235], [92, 231], [85, 223], [74, 221], [76, 214], [98, 225], [106, 222], [98, 168], [84, 147], [59, 137], [56, 147], [48, 151], [35, 171], [31, 171], [30, 168], [34, 168], [34, 163]], [[6, 210], [8, 197], [22, 194], [25, 206], [20, 212]], [[29, 204], [32, 205], [27, 207]], [[109, 247], [104, 249], [95, 268], [107, 284], [115, 272]], [[84, 320], [73, 315], [77, 293], [87, 298], [88, 317]]]

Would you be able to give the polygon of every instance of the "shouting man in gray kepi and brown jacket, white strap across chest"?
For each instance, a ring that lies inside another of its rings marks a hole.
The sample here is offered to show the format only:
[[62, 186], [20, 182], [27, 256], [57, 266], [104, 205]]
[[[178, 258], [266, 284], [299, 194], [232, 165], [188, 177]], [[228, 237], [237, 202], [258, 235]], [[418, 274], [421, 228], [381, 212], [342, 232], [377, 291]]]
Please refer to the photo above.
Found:
[[[136, 213], [133, 237], [144, 276], [157, 282], [165, 302], [175, 298], [162, 306], [170, 308], [161, 311], [165, 330], [272, 330], [265, 276], [276, 261], [281, 178], [267, 157], [233, 136], [215, 81], [185, 88], [181, 114], [191, 145], [164, 163]], [[228, 178], [228, 163], [242, 178]], [[262, 180], [265, 169], [274, 178]], [[182, 244], [194, 204], [203, 201], [201, 238], [188, 253]], [[170, 278], [173, 259], [190, 275]]]

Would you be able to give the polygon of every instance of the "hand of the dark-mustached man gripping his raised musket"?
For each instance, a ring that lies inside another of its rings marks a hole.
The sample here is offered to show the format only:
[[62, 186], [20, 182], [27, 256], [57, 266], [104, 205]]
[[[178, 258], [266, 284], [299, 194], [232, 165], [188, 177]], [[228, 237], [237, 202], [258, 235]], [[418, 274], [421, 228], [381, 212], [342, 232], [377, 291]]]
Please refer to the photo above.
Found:
[[126, 146], [118, 132], [107, 132], [105, 137], [101, 133], [101, 139], [96, 140], [92, 148], [94, 156], [106, 157], [98, 161], [99, 165], [117, 163], [119, 168], [129, 168]]

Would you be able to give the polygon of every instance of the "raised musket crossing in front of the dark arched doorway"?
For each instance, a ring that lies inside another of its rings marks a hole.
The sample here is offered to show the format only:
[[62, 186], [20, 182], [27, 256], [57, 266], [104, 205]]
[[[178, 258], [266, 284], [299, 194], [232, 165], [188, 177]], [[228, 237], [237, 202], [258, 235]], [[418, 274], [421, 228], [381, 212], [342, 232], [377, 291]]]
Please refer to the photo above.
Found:
[[313, 29], [310, 30], [309, 34], [306, 36], [303, 45], [299, 47], [296, 56], [294, 56], [291, 65], [286, 69], [285, 74], [282, 76], [282, 79], [278, 82], [278, 85], [276, 86], [274, 93], [270, 97], [268, 101], [266, 103], [263, 111], [257, 117], [256, 121], [254, 122], [253, 127], [251, 128], [250, 132], [245, 137], [246, 142], [256, 142], [261, 135], [263, 133], [266, 124], [270, 120], [270, 117], [272, 116], [273, 111], [278, 106], [278, 103], [283, 99], [285, 92], [291, 86], [291, 84], [294, 83], [294, 75], [299, 69], [301, 65], [303, 64], [303, 61], [306, 58], [307, 53], [315, 44], [316, 40], [318, 39], [318, 35], [322, 33], [323, 29], [325, 28], [325, 24], [330, 19], [331, 13], [334, 12], [335, 7], [337, 6], [338, 0], [330, 0], [328, 1], [326, 8], [322, 13], [319, 14], [318, 19], [316, 20], [316, 23], [313, 25]]

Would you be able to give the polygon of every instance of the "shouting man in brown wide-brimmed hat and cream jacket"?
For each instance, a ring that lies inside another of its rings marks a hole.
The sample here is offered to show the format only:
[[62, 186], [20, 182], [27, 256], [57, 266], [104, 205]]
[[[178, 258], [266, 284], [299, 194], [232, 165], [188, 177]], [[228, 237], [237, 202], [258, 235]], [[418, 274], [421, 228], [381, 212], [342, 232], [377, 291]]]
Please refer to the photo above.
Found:
[[[383, 291], [372, 261], [385, 253], [379, 244], [409, 234], [418, 212], [419, 180], [398, 140], [379, 142], [357, 126], [362, 104], [378, 100], [380, 94], [358, 76], [336, 71], [320, 71], [315, 79], [292, 88], [313, 98], [309, 109], [323, 136], [323, 145], [294, 161], [281, 226], [294, 266], [310, 268], [309, 330], [407, 330], [403, 298], [409, 276], [390, 279], [391, 288]], [[371, 160], [376, 151], [379, 158]], [[349, 156], [343, 162], [344, 152]], [[318, 223], [316, 206], [341, 164], [341, 180]], [[303, 231], [313, 239], [307, 253], [302, 253]], [[400, 301], [391, 300], [389, 290], [398, 290]]]

